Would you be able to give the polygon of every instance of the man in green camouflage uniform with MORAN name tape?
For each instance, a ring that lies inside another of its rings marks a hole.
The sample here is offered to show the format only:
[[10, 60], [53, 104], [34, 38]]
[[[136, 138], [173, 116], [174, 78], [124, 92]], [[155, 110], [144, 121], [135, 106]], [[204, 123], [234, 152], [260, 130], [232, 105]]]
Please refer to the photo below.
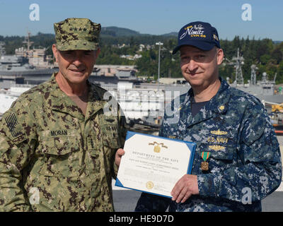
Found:
[[1, 119], [0, 210], [113, 211], [125, 119], [108, 106], [105, 90], [88, 82], [100, 24], [68, 18], [54, 30], [59, 72], [23, 93]]

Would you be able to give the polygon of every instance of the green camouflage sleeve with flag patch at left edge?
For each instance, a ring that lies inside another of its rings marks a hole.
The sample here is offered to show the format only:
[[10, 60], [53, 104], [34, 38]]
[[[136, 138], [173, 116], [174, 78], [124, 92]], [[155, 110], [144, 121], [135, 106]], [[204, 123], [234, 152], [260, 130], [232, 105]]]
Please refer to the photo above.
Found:
[[30, 210], [23, 174], [35, 147], [32, 121], [19, 102], [0, 121], [0, 211]]

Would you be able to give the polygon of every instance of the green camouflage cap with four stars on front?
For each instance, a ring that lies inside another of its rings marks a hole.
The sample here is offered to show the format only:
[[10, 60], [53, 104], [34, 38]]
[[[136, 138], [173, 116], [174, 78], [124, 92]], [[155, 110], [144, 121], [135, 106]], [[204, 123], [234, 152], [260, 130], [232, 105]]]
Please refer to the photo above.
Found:
[[54, 23], [56, 47], [67, 50], [96, 50], [99, 46], [100, 23], [87, 18], [67, 18]]

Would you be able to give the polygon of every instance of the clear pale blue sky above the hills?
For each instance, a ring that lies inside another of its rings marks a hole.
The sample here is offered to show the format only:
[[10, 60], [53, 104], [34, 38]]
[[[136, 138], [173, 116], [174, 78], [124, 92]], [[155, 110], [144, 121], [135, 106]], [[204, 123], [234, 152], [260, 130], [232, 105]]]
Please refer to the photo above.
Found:
[[151, 35], [178, 32], [201, 20], [222, 40], [238, 35], [283, 41], [282, 0], [0, 0], [0, 35], [54, 34], [53, 23], [72, 17]]

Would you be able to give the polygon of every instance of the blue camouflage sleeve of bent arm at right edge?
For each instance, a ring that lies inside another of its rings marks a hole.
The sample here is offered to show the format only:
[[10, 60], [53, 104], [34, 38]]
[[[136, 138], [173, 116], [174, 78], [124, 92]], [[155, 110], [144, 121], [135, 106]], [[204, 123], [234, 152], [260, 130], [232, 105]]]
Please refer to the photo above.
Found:
[[197, 175], [200, 195], [251, 204], [277, 189], [282, 180], [279, 143], [262, 105], [246, 108], [239, 139], [238, 165]]

